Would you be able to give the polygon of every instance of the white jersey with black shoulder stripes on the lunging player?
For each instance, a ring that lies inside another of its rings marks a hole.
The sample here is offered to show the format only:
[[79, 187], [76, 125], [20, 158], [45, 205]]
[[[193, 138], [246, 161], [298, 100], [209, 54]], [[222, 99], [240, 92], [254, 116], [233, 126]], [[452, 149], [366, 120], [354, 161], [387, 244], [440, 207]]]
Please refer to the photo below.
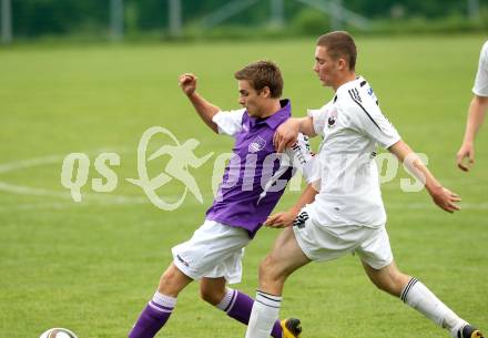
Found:
[[388, 148], [400, 136], [369, 84], [363, 78], [343, 84], [331, 102], [308, 115], [323, 137], [314, 174], [319, 193], [308, 206], [312, 219], [336, 232], [345, 225], [383, 226], [376, 146]]

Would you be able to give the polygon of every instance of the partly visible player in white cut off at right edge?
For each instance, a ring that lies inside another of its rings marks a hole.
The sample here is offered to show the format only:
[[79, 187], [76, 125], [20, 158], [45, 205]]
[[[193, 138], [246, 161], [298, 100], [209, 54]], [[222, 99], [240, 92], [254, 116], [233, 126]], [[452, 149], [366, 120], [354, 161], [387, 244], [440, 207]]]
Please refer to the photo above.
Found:
[[[475, 95], [469, 104], [465, 139], [456, 156], [458, 167], [465, 172], [468, 172], [475, 164], [475, 139], [488, 110], [488, 41], [485, 42], [479, 54], [472, 93]], [[466, 157], [468, 158], [467, 164], [464, 163]]]

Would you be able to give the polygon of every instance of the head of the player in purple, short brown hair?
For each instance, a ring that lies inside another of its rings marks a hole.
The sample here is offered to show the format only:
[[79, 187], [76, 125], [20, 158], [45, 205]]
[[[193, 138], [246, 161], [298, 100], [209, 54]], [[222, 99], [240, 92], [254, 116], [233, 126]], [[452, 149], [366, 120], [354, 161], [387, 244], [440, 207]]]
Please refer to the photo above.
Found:
[[251, 116], [262, 116], [271, 102], [279, 100], [283, 78], [279, 68], [271, 61], [256, 61], [234, 73], [238, 82], [238, 103]]

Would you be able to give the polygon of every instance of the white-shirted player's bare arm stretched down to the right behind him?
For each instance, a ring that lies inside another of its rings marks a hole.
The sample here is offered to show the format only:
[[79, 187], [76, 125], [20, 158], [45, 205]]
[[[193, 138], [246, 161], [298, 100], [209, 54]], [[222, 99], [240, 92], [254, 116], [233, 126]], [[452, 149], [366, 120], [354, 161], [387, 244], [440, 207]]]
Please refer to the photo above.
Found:
[[460, 207], [456, 204], [461, 198], [456, 194], [445, 188], [430, 171], [424, 165], [421, 160], [414, 153], [414, 151], [403, 141], [398, 141], [388, 148], [397, 158], [405, 164], [405, 166], [420, 180], [427, 192], [433, 197], [435, 204], [448, 213], [459, 211]]

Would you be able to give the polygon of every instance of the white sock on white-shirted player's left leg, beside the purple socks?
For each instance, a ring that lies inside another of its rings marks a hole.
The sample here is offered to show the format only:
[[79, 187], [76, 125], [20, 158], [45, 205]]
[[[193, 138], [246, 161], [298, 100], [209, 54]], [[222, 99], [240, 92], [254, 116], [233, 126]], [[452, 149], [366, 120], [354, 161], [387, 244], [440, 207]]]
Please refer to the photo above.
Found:
[[278, 319], [281, 304], [282, 297], [257, 291], [246, 338], [270, 338], [273, 325]]

